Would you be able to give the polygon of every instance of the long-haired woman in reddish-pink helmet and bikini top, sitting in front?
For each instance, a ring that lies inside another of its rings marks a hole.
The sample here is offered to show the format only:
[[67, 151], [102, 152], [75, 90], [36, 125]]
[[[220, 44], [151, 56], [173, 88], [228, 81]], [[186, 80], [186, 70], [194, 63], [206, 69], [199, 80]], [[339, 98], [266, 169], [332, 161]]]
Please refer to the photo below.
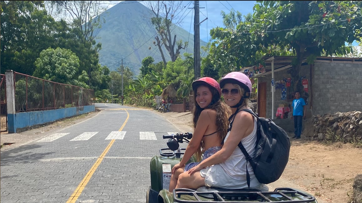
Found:
[[[203, 77], [192, 83], [195, 109], [193, 112], [194, 133], [179, 164], [172, 168], [169, 191], [177, 184], [178, 176], [198, 163], [186, 162], [195, 154], [197, 161], [219, 151], [227, 133], [230, 108], [220, 101], [219, 83], [210, 77]], [[203, 156], [202, 156], [203, 154]], [[186, 165], [185, 165], [186, 164]]]

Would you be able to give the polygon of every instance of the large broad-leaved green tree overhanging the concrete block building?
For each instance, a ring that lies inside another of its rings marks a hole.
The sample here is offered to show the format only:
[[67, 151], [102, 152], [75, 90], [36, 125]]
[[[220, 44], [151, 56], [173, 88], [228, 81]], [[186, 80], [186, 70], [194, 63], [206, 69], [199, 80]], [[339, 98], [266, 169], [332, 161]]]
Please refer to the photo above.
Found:
[[345, 42], [358, 40], [361, 29], [361, 1], [257, 1], [249, 32], [251, 40], [264, 47], [278, 44], [295, 54], [289, 73], [296, 89], [300, 67], [306, 57], [313, 61], [321, 53], [345, 54]]

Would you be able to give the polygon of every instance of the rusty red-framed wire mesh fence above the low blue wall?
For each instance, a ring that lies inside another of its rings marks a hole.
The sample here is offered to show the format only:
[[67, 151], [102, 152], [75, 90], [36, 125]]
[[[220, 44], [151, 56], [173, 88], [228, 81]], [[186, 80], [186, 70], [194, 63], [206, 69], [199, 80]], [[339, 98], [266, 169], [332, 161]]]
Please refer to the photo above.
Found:
[[42, 111], [94, 104], [94, 90], [14, 72], [15, 111]]

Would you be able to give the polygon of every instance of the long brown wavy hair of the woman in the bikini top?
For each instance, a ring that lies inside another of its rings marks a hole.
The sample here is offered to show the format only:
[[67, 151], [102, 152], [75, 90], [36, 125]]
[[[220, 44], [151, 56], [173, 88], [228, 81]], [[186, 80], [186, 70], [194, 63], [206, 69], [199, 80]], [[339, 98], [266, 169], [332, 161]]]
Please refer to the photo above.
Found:
[[[219, 137], [220, 143], [221, 143], [227, 134], [227, 129], [228, 129], [228, 125], [229, 125], [228, 118], [231, 115], [231, 109], [228, 105], [226, 105], [224, 102], [222, 102], [220, 100], [219, 92], [215, 88], [211, 87], [210, 85], [205, 84], [205, 85], [197, 86], [195, 88], [195, 90], [197, 90], [197, 88], [200, 86], [208, 87], [212, 94], [211, 103], [205, 109], [214, 109], [216, 111], [215, 125], [217, 126], [216, 131], [218, 132], [218, 137]], [[203, 108], [201, 108], [196, 102], [196, 92], [194, 92], [193, 100], [194, 100], [194, 104], [195, 104], [195, 109], [193, 111], [193, 123], [194, 123], [194, 129], [195, 129], [196, 125], [197, 125], [197, 121], [200, 117], [200, 114], [201, 114]], [[201, 161], [202, 153], [204, 152], [204, 150], [205, 150], [204, 143], [203, 143], [203, 141], [201, 141], [198, 150], [195, 152], [197, 161]]]

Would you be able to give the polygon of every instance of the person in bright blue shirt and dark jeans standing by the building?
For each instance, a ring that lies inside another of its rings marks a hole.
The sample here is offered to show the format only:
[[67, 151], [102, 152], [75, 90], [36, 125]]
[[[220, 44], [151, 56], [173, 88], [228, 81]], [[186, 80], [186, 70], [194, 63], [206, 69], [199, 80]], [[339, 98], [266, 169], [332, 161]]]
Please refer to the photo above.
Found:
[[300, 139], [302, 133], [302, 120], [306, 116], [306, 102], [303, 98], [300, 98], [300, 92], [295, 92], [295, 99], [292, 102], [292, 113], [291, 119], [294, 119], [294, 137]]

